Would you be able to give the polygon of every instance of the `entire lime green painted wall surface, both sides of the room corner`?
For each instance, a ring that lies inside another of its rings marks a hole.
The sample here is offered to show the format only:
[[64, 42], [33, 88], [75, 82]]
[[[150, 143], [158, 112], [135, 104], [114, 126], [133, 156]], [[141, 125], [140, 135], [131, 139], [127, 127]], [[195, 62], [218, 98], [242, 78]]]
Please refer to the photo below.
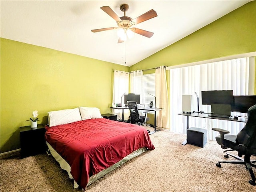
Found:
[[[113, 69], [173, 66], [256, 51], [256, 2], [129, 67], [1, 38], [1, 153], [20, 148], [19, 127], [34, 110], [96, 106], [109, 113]], [[151, 71], [149, 71], [151, 72]], [[154, 72], [154, 70], [152, 71]]]

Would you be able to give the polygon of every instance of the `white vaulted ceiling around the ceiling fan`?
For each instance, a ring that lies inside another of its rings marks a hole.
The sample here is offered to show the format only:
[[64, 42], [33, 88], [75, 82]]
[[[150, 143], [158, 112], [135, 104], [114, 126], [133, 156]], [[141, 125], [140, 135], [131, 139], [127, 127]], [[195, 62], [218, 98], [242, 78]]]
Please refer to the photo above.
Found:
[[[3, 1], [1, 37], [54, 50], [132, 66], [188, 36], [250, 0], [116, 0], [116, 1]], [[129, 5], [126, 16], [136, 18], [154, 9], [158, 16], [136, 27], [154, 32], [151, 38], [134, 34], [118, 44], [116, 30], [91, 29], [117, 26], [100, 9], [110, 6], [124, 16], [120, 4]], [[126, 64], [124, 62], [126, 61]]]

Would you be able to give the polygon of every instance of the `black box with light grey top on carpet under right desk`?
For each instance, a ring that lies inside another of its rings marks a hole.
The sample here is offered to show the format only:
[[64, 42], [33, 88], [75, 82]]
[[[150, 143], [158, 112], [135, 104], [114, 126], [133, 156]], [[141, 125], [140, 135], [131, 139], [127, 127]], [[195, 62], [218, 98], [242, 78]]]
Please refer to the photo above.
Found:
[[203, 148], [207, 143], [207, 130], [197, 127], [188, 128], [187, 143]]

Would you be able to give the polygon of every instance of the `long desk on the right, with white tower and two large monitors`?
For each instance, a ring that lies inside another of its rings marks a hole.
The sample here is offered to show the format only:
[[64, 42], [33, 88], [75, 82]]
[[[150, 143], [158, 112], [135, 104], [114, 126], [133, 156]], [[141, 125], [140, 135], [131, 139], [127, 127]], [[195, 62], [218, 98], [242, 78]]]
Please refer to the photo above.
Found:
[[[233, 118], [222, 118], [222, 117], [213, 117], [213, 116], [208, 116], [208, 114], [204, 114], [204, 113], [178, 113], [178, 115], [183, 115], [183, 116], [187, 116], [187, 130], [189, 128], [188, 125], [188, 118], [189, 117], [198, 117], [198, 118], [207, 118], [207, 119], [218, 119], [218, 120], [226, 120], [226, 121], [234, 121], [234, 122], [247, 122], [247, 118], [243, 118], [243, 117], [238, 117], [238, 119], [233, 119]], [[187, 144], [187, 140], [185, 140], [184, 142], [182, 142], [182, 145], [186, 145]]]

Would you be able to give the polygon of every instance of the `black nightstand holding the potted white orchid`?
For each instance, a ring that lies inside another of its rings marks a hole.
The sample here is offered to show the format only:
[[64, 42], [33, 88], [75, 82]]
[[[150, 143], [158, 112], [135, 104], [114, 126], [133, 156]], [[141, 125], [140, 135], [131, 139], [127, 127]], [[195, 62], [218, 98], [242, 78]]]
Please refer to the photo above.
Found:
[[35, 128], [20, 127], [21, 158], [46, 152], [44, 134], [45, 128], [42, 124], [38, 124]]

